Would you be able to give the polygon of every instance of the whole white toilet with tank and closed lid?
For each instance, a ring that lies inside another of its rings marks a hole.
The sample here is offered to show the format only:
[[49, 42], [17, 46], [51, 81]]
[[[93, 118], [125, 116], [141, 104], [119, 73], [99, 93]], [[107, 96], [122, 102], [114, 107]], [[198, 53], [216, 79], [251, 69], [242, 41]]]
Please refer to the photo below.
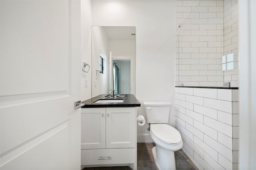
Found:
[[150, 123], [150, 136], [156, 144], [152, 148], [156, 166], [159, 170], [176, 170], [174, 152], [183, 146], [177, 129], [167, 125], [169, 121], [170, 102], [144, 102], [146, 120]]

